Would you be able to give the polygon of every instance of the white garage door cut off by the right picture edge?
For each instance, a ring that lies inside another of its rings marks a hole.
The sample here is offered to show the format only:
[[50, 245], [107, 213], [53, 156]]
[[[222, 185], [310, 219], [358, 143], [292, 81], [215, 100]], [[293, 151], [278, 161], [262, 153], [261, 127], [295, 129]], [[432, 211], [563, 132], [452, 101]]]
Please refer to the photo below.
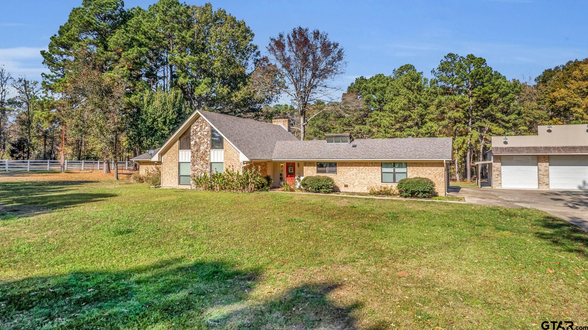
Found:
[[588, 156], [549, 156], [550, 189], [588, 189]]

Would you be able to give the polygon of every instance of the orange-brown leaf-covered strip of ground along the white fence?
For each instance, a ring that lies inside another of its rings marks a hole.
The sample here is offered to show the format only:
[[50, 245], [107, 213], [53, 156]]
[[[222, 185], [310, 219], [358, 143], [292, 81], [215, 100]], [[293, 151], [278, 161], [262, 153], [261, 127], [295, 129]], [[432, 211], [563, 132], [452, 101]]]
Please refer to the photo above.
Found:
[[[134, 171], [119, 170], [118, 177], [127, 180]], [[4, 181], [104, 181], [114, 179], [114, 173], [98, 170], [46, 172], [46, 171], [0, 171], [0, 182]]]

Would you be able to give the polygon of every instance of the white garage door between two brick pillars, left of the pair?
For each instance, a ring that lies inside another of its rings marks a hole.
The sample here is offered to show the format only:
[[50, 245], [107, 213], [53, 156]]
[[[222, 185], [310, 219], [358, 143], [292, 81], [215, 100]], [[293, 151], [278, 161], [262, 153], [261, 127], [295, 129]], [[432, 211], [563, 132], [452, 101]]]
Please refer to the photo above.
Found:
[[502, 156], [502, 187], [536, 189], [539, 187], [537, 177], [537, 156]]

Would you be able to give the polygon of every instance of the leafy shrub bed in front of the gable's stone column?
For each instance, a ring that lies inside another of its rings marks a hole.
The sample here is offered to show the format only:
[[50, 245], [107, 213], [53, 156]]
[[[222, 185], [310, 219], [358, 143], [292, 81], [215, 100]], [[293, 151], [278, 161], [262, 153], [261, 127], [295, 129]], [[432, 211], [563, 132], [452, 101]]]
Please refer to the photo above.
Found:
[[243, 173], [225, 170], [223, 173], [203, 174], [192, 179], [196, 190], [233, 191], [233, 193], [252, 193], [267, 191], [269, 181], [262, 177], [259, 169], [246, 170]]

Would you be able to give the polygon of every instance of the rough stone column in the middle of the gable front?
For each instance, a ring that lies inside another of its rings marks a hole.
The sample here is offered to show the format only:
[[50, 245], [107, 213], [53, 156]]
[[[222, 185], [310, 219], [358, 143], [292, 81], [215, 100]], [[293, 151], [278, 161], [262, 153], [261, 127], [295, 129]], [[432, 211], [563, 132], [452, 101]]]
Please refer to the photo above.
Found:
[[[201, 176], [211, 171], [211, 125], [198, 117], [190, 127], [191, 177]], [[191, 181], [190, 187], [194, 188]]]

